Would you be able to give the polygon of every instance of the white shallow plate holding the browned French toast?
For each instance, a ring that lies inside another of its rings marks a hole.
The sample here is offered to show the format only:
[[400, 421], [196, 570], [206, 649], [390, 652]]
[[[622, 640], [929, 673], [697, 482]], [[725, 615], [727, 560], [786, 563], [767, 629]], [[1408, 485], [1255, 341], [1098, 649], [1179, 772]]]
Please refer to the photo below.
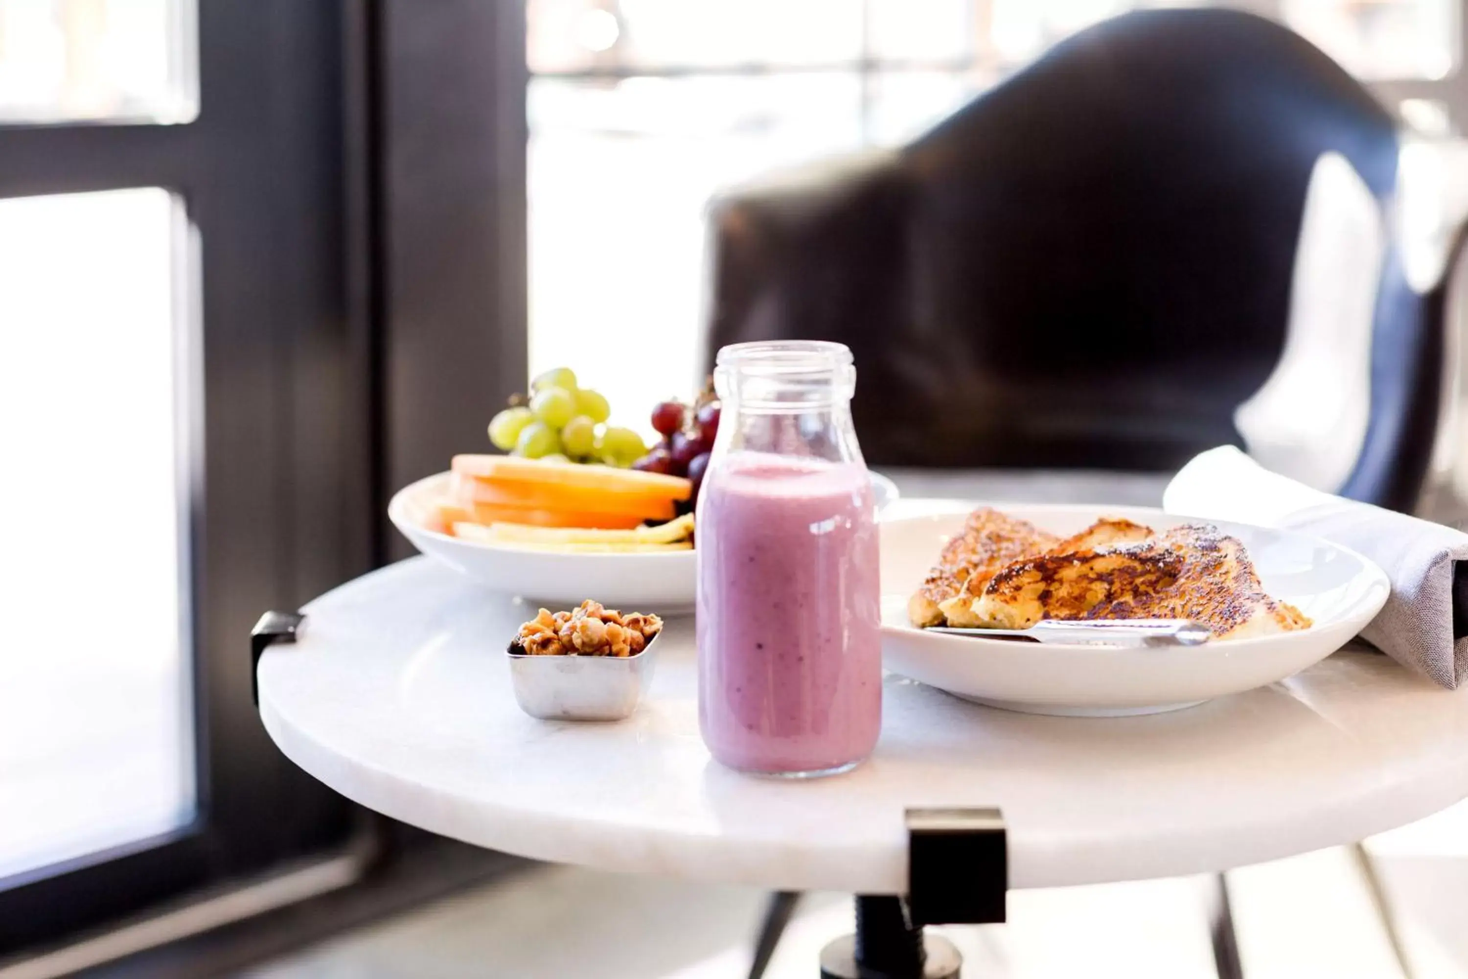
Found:
[[[1135, 506], [998, 505], [1057, 534], [1102, 515], [1167, 530], [1188, 518]], [[913, 628], [907, 597], [972, 505], [882, 523], [882, 663], [893, 672], [1010, 710], [1079, 716], [1154, 713], [1284, 680], [1345, 646], [1387, 599], [1381, 568], [1318, 537], [1227, 521], [1265, 592], [1314, 619], [1298, 633], [1207, 643], [1191, 649], [1039, 644], [967, 638]]]

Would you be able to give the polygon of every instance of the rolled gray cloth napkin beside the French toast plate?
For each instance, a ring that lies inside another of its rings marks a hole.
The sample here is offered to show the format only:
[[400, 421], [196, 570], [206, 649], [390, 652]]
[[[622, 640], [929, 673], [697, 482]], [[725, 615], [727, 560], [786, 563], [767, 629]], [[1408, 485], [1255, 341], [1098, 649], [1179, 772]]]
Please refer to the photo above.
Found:
[[1458, 564], [1468, 561], [1468, 534], [1321, 493], [1233, 446], [1185, 465], [1167, 484], [1163, 508], [1299, 530], [1359, 550], [1392, 580], [1392, 597], [1361, 637], [1449, 690], [1468, 675], [1468, 565]]

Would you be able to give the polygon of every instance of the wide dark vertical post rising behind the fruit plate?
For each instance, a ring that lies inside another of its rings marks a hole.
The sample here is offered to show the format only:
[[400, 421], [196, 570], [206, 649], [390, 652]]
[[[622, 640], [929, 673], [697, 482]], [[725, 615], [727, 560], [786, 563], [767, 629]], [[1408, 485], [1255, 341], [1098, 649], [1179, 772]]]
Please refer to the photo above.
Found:
[[[432, 7], [380, 4], [389, 487], [483, 445], [526, 380], [524, 3]], [[389, 542], [393, 556], [413, 552]]]

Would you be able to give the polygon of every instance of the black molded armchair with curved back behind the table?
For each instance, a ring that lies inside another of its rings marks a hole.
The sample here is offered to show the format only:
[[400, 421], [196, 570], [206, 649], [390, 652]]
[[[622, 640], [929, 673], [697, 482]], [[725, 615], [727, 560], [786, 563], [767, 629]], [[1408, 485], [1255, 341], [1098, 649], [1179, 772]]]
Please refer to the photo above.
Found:
[[[718, 197], [709, 358], [847, 343], [873, 464], [1174, 468], [1240, 443], [1233, 412], [1280, 358], [1327, 153], [1384, 213], [1393, 120], [1321, 51], [1232, 10], [1124, 15], [898, 151]], [[1339, 492], [1417, 501], [1445, 301], [1389, 241], [1367, 430]]]

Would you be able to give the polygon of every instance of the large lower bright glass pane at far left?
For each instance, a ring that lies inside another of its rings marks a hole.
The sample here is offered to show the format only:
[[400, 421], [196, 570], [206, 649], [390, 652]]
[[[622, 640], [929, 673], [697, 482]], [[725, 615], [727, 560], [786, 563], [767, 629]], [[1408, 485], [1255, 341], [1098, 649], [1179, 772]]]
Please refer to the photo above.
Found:
[[0, 511], [29, 515], [6, 533], [0, 878], [194, 819], [186, 628], [119, 628], [188, 611], [175, 436], [182, 236], [178, 204], [156, 188], [0, 200], [0, 442], [12, 473]]

